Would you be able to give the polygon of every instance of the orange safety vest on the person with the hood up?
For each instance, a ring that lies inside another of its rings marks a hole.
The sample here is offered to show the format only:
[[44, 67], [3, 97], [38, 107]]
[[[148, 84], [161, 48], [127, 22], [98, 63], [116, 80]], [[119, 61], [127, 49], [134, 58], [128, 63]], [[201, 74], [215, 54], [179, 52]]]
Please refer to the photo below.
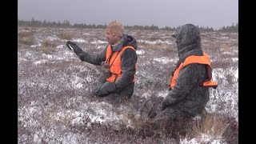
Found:
[[206, 54], [206, 53], [203, 53], [203, 56], [195, 56], [195, 55], [190, 55], [189, 57], [187, 57], [185, 59], [184, 62], [182, 62], [178, 68], [174, 71], [174, 76], [173, 78], [170, 80], [170, 88], [171, 89], [174, 89], [174, 86], [176, 84], [176, 79], [178, 78], [178, 73], [180, 70], [182, 70], [182, 68], [184, 66], [187, 66], [191, 63], [199, 63], [199, 64], [204, 64], [206, 65], [206, 68], [207, 68], [207, 75], [208, 75], [208, 78], [205, 82], [202, 83], [202, 86], [205, 86], [205, 87], [213, 87], [214, 89], [217, 88], [218, 86], [218, 83], [217, 82], [213, 82], [213, 78], [212, 78], [212, 68], [210, 66], [210, 58], [209, 56]]

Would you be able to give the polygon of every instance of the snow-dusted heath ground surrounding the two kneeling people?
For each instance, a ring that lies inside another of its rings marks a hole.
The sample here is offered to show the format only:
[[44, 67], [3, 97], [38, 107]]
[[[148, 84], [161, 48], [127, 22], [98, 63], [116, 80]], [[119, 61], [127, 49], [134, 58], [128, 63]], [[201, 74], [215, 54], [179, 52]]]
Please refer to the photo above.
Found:
[[[153, 137], [152, 141], [130, 138], [122, 126], [136, 129], [138, 120], [148, 114], [147, 110], [142, 113], [143, 103], [166, 97], [168, 74], [178, 61], [175, 42], [171, 31], [126, 32], [138, 40], [137, 82], [131, 100], [116, 106], [90, 96], [98, 66], [81, 62], [66, 48], [66, 41], [72, 40], [83, 50], [97, 53], [106, 47], [105, 30], [18, 27], [18, 143], [158, 142]], [[203, 33], [202, 49], [212, 60], [218, 82], [216, 90], [210, 89], [206, 111], [234, 118], [238, 125], [238, 34]], [[97, 136], [101, 130], [99, 135], [106, 137]], [[112, 130], [128, 136], [118, 141]], [[162, 138], [162, 142], [170, 139]], [[200, 142], [226, 143], [207, 134], [179, 140]]]

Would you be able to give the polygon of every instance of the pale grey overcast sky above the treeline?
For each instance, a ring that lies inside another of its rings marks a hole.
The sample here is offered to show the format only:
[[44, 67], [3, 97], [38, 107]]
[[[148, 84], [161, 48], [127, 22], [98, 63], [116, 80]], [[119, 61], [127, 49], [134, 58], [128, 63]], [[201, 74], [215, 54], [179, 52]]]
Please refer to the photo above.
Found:
[[193, 23], [218, 29], [238, 22], [238, 0], [18, 0], [18, 19], [32, 18], [159, 27]]

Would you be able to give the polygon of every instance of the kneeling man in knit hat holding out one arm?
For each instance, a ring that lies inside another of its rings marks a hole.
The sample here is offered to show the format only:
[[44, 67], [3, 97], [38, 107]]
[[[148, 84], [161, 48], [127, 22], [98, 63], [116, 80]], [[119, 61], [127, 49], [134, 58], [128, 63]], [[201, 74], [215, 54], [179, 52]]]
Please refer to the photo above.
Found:
[[[102, 77], [93, 93], [99, 97], [122, 95], [130, 98], [134, 94], [136, 81], [137, 41], [124, 34], [120, 22], [110, 22], [106, 28], [106, 40], [109, 43], [99, 54], [88, 54], [74, 42], [66, 42], [66, 46], [78, 55], [82, 62], [102, 66]], [[121, 96], [120, 96], [121, 97]]]

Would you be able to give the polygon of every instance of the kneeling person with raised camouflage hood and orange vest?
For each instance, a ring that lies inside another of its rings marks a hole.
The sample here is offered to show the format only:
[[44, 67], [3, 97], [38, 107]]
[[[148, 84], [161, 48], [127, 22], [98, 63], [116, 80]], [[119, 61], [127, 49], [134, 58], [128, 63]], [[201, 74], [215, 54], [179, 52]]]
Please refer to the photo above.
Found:
[[170, 80], [170, 91], [162, 102], [162, 114], [172, 119], [202, 114], [210, 99], [213, 82], [209, 56], [202, 51], [200, 32], [193, 24], [178, 28], [172, 35], [178, 47], [178, 63]]

